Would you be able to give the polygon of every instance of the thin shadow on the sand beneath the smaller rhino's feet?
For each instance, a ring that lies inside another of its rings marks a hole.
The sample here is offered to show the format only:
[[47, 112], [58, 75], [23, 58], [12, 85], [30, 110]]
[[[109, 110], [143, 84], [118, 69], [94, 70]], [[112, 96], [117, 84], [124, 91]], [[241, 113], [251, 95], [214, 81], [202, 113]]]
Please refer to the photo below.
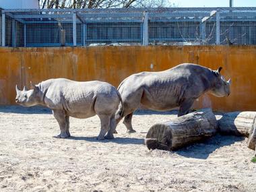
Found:
[[101, 142], [101, 143], [118, 143], [118, 144], [134, 144], [134, 145], [143, 145], [144, 139], [131, 138], [131, 137], [115, 137], [115, 139], [104, 139], [97, 140], [96, 137], [74, 137], [71, 136], [67, 139], [79, 140], [79, 141], [90, 141], [90, 142]]

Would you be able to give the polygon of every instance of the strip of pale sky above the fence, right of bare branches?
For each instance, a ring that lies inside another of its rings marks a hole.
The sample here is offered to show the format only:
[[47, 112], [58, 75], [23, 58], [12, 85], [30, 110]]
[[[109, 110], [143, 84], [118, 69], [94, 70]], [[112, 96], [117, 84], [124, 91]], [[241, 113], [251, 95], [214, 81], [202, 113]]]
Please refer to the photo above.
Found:
[[[229, 0], [168, 0], [177, 7], [229, 7]], [[234, 7], [256, 7], [256, 0], [233, 0]]]

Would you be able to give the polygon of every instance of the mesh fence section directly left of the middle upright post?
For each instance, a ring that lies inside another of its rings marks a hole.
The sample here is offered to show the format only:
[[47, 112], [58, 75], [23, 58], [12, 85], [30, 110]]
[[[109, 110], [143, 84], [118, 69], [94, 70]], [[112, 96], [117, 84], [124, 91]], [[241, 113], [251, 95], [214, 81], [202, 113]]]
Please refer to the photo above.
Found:
[[141, 44], [142, 17], [141, 11], [129, 9], [85, 10], [76, 13], [77, 44]]

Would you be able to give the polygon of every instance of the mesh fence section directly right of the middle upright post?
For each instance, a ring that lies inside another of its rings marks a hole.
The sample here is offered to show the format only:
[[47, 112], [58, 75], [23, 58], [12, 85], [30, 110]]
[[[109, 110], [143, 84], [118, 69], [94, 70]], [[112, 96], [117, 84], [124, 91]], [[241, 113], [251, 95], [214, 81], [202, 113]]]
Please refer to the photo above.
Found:
[[177, 9], [150, 13], [149, 42], [150, 44], [200, 44], [201, 18], [209, 15], [203, 9], [191, 11]]

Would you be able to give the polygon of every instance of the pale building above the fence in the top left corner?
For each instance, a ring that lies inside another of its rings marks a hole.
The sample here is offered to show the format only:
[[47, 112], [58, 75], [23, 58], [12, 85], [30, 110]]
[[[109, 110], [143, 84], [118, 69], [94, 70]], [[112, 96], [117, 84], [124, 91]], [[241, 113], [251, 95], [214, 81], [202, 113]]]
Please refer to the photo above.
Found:
[[38, 0], [0, 0], [2, 9], [38, 9]]

